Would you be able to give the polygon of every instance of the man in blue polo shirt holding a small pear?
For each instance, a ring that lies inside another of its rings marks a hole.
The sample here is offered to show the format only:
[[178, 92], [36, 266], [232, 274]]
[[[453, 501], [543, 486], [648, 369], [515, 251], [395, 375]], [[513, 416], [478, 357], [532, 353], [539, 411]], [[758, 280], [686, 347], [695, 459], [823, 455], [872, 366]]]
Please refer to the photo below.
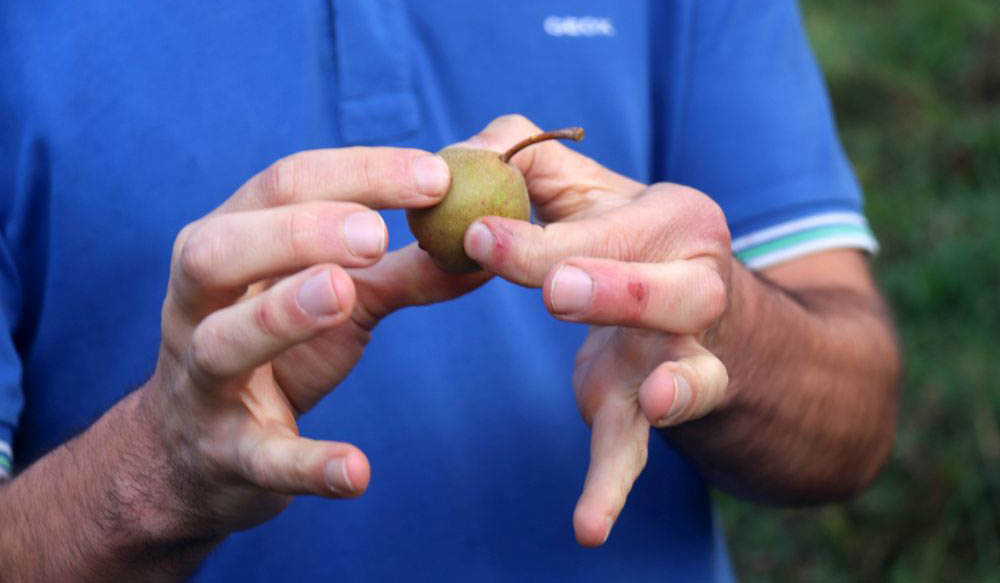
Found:
[[[5, 577], [725, 581], [706, 480], [839, 500], [885, 459], [794, 4], [4, 12]], [[506, 111], [468, 141], [590, 135], [513, 160], [546, 226], [473, 225], [483, 274], [387, 251], [368, 209]]]

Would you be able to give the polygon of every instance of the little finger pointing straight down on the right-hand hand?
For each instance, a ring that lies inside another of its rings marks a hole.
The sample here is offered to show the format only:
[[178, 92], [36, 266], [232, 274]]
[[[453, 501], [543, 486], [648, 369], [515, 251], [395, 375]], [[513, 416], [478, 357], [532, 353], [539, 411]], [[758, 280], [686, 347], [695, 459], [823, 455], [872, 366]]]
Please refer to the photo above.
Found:
[[649, 422], [634, 403], [605, 401], [594, 415], [590, 467], [573, 512], [573, 530], [585, 547], [604, 544], [636, 478], [646, 466]]

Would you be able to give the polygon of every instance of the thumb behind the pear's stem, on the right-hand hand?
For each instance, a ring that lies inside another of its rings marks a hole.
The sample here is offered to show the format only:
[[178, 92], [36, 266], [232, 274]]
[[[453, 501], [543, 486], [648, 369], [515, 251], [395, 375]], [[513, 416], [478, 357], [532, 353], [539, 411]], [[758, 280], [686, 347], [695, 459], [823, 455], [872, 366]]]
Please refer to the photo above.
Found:
[[[554, 129], [554, 128], [549, 128]], [[522, 115], [499, 117], [464, 145], [505, 152], [542, 130]], [[511, 163], [524, 175], [539, 219], [550, 222], [580, 213], [609, 198], [631, 197], [643, 185], [550, 140], [518, 152]]]

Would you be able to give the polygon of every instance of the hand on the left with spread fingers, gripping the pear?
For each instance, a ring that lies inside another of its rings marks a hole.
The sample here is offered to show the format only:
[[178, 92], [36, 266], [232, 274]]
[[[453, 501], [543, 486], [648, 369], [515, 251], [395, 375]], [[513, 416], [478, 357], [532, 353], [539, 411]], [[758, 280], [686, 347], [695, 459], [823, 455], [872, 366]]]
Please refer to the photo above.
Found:
[[385, 254], [370, 209], [430, 206], [449, 180], [443, 160], [419, 150], [301, 152], [181, 231], [159, 361], [135, 401], [147, 465], [161, 469], [137, 479], [159, 488], [161, 518], [225, 533], [292, 495], [367, 488], [360, 450], [300, 437], [296, 418], [347, 375], [380, 318], [488, 279], [445, 274], [415, 245]]

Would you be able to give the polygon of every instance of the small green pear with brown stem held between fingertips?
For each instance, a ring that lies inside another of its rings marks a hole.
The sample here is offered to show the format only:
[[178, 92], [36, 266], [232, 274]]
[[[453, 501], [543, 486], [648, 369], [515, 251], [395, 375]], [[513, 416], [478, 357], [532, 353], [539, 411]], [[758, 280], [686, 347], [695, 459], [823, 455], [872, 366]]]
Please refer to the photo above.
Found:
[[531, 220], [524, 177], [511, 157], [522, 149], [552, 139], [583, 139], [582, 128], [566, 128], [532, 136], [503, 154], [477, 148], [445, 148], [439, 152], [451, 171], [451, 186], [438, 204], [406, 212], [410, 232], [435, 265], [450, 273], [481, 269], [465, 254], [465, 231], [476, 219], [500, 216]]

